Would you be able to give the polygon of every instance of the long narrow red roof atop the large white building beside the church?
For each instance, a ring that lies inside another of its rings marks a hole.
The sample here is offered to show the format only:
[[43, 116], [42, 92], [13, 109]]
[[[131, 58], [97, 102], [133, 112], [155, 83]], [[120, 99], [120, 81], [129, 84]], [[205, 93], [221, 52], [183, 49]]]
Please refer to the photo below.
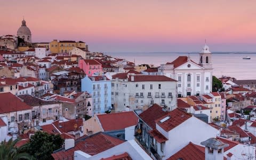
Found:
[[[131, 79], [132, 75], [129, 76], [129, 81], [132, 81]], [[134, 82], [146, 82], [146, 81], [173, 81], [177, 82], [175, 79], [162, 76], [162, 75], [134, 75]]]

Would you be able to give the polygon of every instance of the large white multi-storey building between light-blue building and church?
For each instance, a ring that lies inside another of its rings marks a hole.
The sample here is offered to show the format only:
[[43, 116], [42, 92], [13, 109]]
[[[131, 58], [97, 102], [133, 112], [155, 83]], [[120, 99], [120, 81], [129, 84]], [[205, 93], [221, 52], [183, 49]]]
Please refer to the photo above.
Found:
[[158, 103], [168, 110], [177, 108], [177, 81], [163, 75], [113, 75], [111, 102], [116, 111], [137, 109]]

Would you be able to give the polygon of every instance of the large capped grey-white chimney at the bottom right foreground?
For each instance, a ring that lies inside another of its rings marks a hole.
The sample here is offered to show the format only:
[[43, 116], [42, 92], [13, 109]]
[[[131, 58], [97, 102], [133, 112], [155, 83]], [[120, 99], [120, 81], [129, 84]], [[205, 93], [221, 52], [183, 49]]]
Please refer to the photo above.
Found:
[[229, 146], [217, 138], [209, 138], [201, 145], [205, 146], [205, 160], [223, 159], [224, 148]]

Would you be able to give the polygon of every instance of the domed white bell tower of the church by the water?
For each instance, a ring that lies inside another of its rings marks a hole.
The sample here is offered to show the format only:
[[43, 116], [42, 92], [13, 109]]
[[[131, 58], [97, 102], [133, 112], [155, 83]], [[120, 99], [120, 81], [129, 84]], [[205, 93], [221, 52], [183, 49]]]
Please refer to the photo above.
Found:
[[212, 68], [212, 53], [209, 50], [209, 46], [205, 45], [202, 51], [199, 53], [199, 65], [204, 68]]

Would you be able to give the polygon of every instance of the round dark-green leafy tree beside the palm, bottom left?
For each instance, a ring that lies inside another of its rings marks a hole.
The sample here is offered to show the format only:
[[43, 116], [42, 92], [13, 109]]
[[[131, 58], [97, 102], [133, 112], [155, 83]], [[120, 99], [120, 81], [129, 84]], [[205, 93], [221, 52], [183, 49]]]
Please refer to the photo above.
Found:
[[54, 135], [38, 131], [31, 136], [29, 142], [23, 147], [23, 151], [35, 159], [53, 159], [51, 154], [54, 150], [60, 149], [63, 142], [60, 134]]

